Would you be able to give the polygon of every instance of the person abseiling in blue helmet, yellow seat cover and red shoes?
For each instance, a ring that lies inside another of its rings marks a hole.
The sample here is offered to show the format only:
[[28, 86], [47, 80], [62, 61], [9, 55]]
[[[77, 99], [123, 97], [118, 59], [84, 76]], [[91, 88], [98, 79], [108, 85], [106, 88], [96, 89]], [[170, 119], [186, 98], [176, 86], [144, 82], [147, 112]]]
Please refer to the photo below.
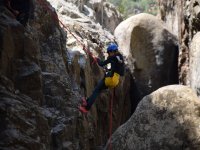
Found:
[[111, 68], [105, 74], [104, 78], [99, 81], [95, 87], [92, 95], [85, 99], [82, 99], [82, 105], [79, 110], [82, 113], [87, 113], [99, 93], [107, 88], [114, 88], [119, 84], [120, 76], [124, 75], [124, 59], [118, 51], [118, 46], [115, 43], [111, 43], [107, 47], [108, 58], [105, 61], [101, 61], [97, 58], [98, 65], [104, 67], [107, 64], [111, 64]]

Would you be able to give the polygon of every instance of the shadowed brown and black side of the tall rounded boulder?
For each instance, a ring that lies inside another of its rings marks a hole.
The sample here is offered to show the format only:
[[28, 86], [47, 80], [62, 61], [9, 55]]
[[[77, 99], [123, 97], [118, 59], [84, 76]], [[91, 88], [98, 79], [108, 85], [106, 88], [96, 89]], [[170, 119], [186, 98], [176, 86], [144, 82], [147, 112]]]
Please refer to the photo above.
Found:
[[[133, 42], [131, 47], [134, 49], [132, 55], [137, 60], [136, 67], [133, 70], [134, 77], [130, 81], [132, 113], [144, 96], [163, 86], [179, 84], [179, 46], [177, 38], [168, 30], [163, 29], [162, 33], [160, 33], [163, 38], [157, 43], [152, 43], [149, 39], [154, 39], [155, 37], [151, 37], [151, 34], [146, 34], [147, 32], [146, 29], [141, 27], [134, 28], [132, 32]], [[141, 46], [141, 44], [145, 45]]]

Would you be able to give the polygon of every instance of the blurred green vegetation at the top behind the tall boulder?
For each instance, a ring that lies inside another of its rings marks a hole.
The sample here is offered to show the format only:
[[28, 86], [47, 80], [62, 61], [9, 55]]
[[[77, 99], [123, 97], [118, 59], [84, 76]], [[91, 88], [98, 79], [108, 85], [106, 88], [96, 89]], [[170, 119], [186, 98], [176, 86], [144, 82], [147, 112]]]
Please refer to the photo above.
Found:
[[141, 12], [157, 14], [157, 0], [108, 0], [127, 18]]

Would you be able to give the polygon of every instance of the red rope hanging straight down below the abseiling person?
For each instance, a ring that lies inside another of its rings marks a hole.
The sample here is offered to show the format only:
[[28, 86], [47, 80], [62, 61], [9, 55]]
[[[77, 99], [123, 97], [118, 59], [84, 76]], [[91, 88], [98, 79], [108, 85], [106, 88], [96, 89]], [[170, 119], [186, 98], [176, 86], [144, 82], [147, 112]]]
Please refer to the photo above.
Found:
[[113, 99], [115, 95], [115, 89], [113, 89], [111, 99], [110, 99], [110, 127], [109, 127], [109, 150], [112, 149], [112, 144], [111, 144], [111, 136], [112, 136], [112, 111], [113, 111]]

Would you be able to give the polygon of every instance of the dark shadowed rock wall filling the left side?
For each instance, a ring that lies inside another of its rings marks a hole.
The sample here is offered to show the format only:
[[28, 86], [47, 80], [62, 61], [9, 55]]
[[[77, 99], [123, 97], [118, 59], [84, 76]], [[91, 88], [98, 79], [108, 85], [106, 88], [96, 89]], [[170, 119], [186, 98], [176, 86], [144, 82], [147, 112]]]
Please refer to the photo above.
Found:
[[48, 14], [41, 17], [37, 3], [26, 28], [6, 7], [0, 10], [1, 149], [68, 148], [72, 136], [61, 135], [75, 134], [78, 97], [69, 92], [61, 29]]

